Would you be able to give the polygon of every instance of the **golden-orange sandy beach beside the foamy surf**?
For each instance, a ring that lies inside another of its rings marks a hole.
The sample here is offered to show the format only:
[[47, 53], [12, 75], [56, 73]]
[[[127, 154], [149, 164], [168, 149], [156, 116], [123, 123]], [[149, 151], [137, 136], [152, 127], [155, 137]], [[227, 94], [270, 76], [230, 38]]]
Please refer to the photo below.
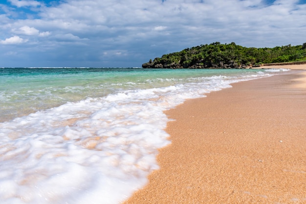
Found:
[[166, 112], [172, 143], [125, 204], [306, 203], [306, 72], [232, 86]]

